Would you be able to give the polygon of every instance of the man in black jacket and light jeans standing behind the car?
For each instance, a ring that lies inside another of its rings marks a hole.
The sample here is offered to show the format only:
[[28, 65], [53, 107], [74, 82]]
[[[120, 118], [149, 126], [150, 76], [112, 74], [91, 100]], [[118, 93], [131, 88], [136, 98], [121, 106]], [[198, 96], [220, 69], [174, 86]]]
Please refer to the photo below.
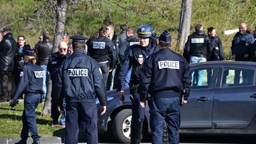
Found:
[[[212, 53], [212, 46], [203, 31], [203, 25], [197, 24], [195, 29], [196, 31], [188, 36], [184, 52], [187, 52], [187, 56], [190, 56], [190, 63], [206, 62]], [[196, 85], [202, 85], [203, 75], [203, 70], [198, 71], [197, 76], [193, 72], [192, 84], [194, 84], [193, 80], [196, 77]]]

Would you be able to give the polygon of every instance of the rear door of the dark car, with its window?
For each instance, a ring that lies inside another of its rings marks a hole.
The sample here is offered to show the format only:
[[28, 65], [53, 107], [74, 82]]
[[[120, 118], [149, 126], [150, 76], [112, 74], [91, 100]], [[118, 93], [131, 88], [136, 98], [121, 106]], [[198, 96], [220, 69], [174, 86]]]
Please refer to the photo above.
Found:
[[213, 100], [214, 129], [242, 129], [256, 116], [255, 70], [224, 67]]

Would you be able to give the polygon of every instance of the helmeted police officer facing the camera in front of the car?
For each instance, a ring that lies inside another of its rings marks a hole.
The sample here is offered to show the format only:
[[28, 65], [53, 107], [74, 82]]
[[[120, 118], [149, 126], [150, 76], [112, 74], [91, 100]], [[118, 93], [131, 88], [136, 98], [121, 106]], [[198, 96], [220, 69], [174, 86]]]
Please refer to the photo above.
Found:
[[145, 117], [145, 108], [140, 106], [139, 93], [137, 92], [137, 87], [139, 86], [140, 82], [140, 68], [146, 57], [158, 51], [158, 48], [152, 39], [154, 33], [151, 25], [141, 25], [137, 30], [137, 35], [140, 39], [140, 45], [134, 44], [131, 47], [125, 62], [121, 66], [121, 71], [119, 73], [119, 85], [117, 88], [117, 92], [121, 100], [124, 92], [124, 81], [129, 69], [132, 67], [132, 75], [130, 80], [130, 89], [133, 98], [131, 143], [140, 143], [140, 139], [142, 138], [142, 124]]

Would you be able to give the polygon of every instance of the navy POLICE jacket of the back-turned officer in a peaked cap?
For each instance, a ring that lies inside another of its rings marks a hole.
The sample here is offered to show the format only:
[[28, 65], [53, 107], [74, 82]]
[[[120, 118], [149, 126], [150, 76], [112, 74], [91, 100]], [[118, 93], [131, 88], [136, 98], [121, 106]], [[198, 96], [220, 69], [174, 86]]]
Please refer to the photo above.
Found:
[[54, 87], [59, 106], [62, 105], [63, 97], [66, 103], [95, 102], [98, 97], [101, 105], [107, 104], [100, 66], [84, 50], [77, 49], [63, 60]]

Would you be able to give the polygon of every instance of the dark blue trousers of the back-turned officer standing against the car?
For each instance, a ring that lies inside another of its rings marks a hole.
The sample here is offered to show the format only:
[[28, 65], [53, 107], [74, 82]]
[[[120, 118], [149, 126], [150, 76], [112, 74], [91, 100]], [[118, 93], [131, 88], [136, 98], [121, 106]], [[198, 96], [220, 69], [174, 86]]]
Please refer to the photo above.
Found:
[[162, 143], [164, 121], [167, 123], [169, 143], [179, 143], [180, 128], [180, 98], [157, 98], [149, 100], [150, 127], [152, 132], [152, 143]]

